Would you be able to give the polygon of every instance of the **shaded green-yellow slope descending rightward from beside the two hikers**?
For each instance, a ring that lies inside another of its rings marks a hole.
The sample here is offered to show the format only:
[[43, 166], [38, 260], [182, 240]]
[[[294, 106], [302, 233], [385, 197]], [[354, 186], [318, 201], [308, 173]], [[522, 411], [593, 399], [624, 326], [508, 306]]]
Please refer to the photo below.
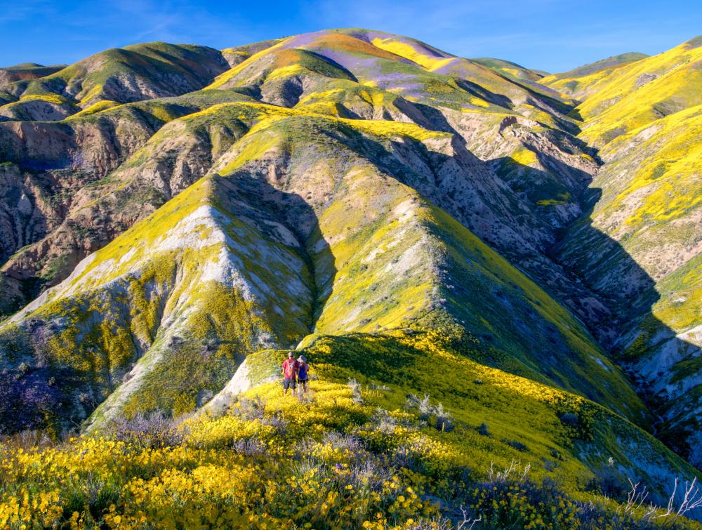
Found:
[[[617, 472], [625, 474], [625, 470], [631, 470], [647, 483], [665, 490], [668, 470], [685, 465], [660, 442], [620, 416], [588, 399], [475, 362], [479, 352], [465, 343], [465, 336], [449, 330], [443, 333], [443, 338], [439, 338], [442, 333], [425, 330], [322, 336], [302, 352], [319, 366], [324, 378], [342, 382], [355, 377], [363, 383], [390, 385], [390, 392], [377, 394], [380, 406], [401, 408], [397, 399], [402, 399], [409, 388], [410, 392], [429, 393], [473, 428], [485, 423], [491, 431], [488, 440], [476, 436], [471, 429], [449, 442], [455, 445], [446, 451], [475, 458], [475, 463], [480, 463], [478, 468], [489, 467], [491, 452], [497, 458], [543, 462], [559, 459], [552, 451], [556, 449], [557, 453], [562, 451], [565, 468], [584, 465], [589, 470], [603, 470], [611, 455]], [[398, 371], [397, 366], [404, 369]], [[562, 420], [557, 420], [567, 411], [578, 416], [574, 430], [564, 429]], [[445, 438], [446, 442], [448, 439], [451, 435]], [[513, 439], [527, 440], [522, 455], [508, 449], [515, 447], [510, 444]], [[663, 475], [656, 477], [656, 468]], [[569, 481], [567, 477], [577, 476], [578, 472], [557, 469], [555, 474]]]

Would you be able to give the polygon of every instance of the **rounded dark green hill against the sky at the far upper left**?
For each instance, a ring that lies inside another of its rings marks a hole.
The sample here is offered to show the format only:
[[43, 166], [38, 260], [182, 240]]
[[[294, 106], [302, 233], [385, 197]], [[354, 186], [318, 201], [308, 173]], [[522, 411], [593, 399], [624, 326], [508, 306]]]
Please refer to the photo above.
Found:
[[203, 88], [227, 68], [222, 53], [163, 42], [113, 48], [0, 91], [0, 117], [55, 121], [98, 102], [126, 103]]

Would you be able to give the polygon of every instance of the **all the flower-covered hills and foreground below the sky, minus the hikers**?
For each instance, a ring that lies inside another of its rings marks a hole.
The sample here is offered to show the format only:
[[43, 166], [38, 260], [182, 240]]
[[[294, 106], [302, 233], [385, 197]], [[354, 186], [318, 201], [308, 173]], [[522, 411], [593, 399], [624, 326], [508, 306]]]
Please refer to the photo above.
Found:
[[0, 526], [696, 527], [625, 505], [702, 462], [697, 40], [543, 77], [335, 29], [5, 84]]

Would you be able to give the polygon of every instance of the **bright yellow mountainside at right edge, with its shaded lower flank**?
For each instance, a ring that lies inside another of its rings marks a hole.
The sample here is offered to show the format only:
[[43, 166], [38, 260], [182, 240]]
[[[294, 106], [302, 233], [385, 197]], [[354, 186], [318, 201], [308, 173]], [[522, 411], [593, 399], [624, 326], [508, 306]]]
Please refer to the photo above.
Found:
[[[555, 254], [619, 315], [615, 357], [661, 418], [661, 437], [699, 465], [702, 355], [700, 39], [608, 71], [574, 113], [604, 165], [592, 211]], [[592, 230], [592, 229], [595, 230]], [[603, 237], [602, 234], [607, 234]]]

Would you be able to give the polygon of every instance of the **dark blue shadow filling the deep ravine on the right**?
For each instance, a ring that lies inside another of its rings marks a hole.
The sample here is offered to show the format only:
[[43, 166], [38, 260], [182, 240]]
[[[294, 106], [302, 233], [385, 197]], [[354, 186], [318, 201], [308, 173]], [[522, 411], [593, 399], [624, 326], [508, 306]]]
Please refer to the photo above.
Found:
[[[538, 154], [538, 158], [543, 166], [551, 171], [524, 166], [514, 159], [497, 159], [493, 162], [502, 168], [508, 166], [519, 169], [517, 173], [522, 173], [521, 180], [512, 179], [511, 182], [510, 178], [505, 180], [510, 183], [513, 190], [521, 194], [530, 204], [535, 205], [539, 200], [553, 197], [554, 192], [557, 191], [554, 190], [557, 182], [554, 180], [553, 173], [568, 175], [571, 179], [573, 177], [584, 179], [583, 184], [588, 187], [583, 186], [581, 192], [572, 197], [581, 206], [582, 213], [571, 223], [555, 231], [556, 242], [548, 249], [547, 255], [550, 260], [563, 267], [578, 286], [583, 286], [594, 294], [595, 298], [607, 308], [607, 312], [595, 311], [592, 300], [583, 296], [586, 293], [582, 291], [579, 293], [574, 291], [573, 296], [566, 295], [564, 298], [563, 293], [554, 292], [548, 286], [544, 286], [545, 289], [569, 307], [585, 323], [609, 356], [623, 366], [637, 393], [658, 418], [654, 423], [657, 437], [699, 468], [702, 462], [691, 458], [695, 454], [699, 455], [699, 449], [695, 450], [687, 442], [698, 429], [698, 421], [694, 416], [680, 421], [677, 425], [671, 425], [670, 421], [662, 420], [661, 416], [669, 412], [669, 407], [678, 396], [670, 396], [665, 390], [657, 393], [651, 390], [653, 386], [651, 383], [662, 376], [670, 377], [670, 372], [636, 373], [633, 363], [647, 353], [647, 347], [650, 350], [661, 350], [665, 341], [668, 341], [665, 351], [668, 355], [677, 356], [674, 361], [676, 363], [698, 357], [701, 355], [700, 349], [694, 344], [677, 338], [673, 329], [655, 317], [652, 309], [661, 297], [656, 291], [654, 279], [629, 255], [619, 241], [592, 226], [592, 212], [602, 197], [602, 189], [589, 187], [591, 183], [589, 175], [577, 168], [567, 166], [541, 153]], [[531, 183], [531, 189], [525, 190], [525, 185], [529, 183]], [[543, 183], [544, 186], [541, 187], [539, 183]], [[536, 211], [548, 212], [549, 208], [557, 206], [557, 204], [536, 206]], [[523, 267], [519, 263], [516, 265]], [[657, 339], [654, 336], [647, 336], [651, 330], [654, 332], [651, 335], [655, 335]], [[637, 340], [640, 336], [648, 338], [651, 342], [637, 344], [640, 342]]]

